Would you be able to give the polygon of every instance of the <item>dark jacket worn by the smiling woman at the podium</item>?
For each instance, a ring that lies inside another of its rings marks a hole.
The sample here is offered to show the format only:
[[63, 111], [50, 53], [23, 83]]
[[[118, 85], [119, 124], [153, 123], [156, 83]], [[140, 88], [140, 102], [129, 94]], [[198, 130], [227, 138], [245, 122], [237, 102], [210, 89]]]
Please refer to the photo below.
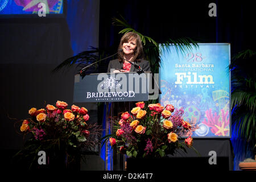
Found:
[[[140, 59], [140, 61], [135, 61], [145, 72], [150, 71], [150, 63], [147, 60]], [[108, 73], [110, 73], [110, 69], [123, 69], [123, 63], [119, 62], [118, 59], [112, 60], [109, 62]], [[130, 72], [136, 72], [136, 68], [134, 65], [131, 65]]]

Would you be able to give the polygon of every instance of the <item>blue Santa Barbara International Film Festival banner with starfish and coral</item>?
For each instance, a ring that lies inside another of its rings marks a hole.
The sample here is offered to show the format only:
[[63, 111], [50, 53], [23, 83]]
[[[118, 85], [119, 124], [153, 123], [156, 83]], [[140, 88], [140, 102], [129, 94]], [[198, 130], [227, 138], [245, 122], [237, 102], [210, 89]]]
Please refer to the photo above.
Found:
[[230, 44], [199, 44], [188, 53], [161, 47], [160, 104], [184, 108], [199, 126], [192, 137], [230, 136]]

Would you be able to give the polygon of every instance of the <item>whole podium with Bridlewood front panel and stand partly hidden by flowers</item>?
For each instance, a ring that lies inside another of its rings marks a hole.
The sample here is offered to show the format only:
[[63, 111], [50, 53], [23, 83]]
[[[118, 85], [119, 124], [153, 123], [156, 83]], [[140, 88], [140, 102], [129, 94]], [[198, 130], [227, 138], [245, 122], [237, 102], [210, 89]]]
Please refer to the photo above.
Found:
[[[73, 102], [104, 102], [103, 136], [113, 133], [113, 121], [125, 111], [130, 112], [139, 101], [156, 100], [159, 77], [150, 72], [93, 73], [82, 78], [75, 75]], [[102, 146], [106, 170], [124, 170], [125, 156], [113, 151], [109, 143]]]

